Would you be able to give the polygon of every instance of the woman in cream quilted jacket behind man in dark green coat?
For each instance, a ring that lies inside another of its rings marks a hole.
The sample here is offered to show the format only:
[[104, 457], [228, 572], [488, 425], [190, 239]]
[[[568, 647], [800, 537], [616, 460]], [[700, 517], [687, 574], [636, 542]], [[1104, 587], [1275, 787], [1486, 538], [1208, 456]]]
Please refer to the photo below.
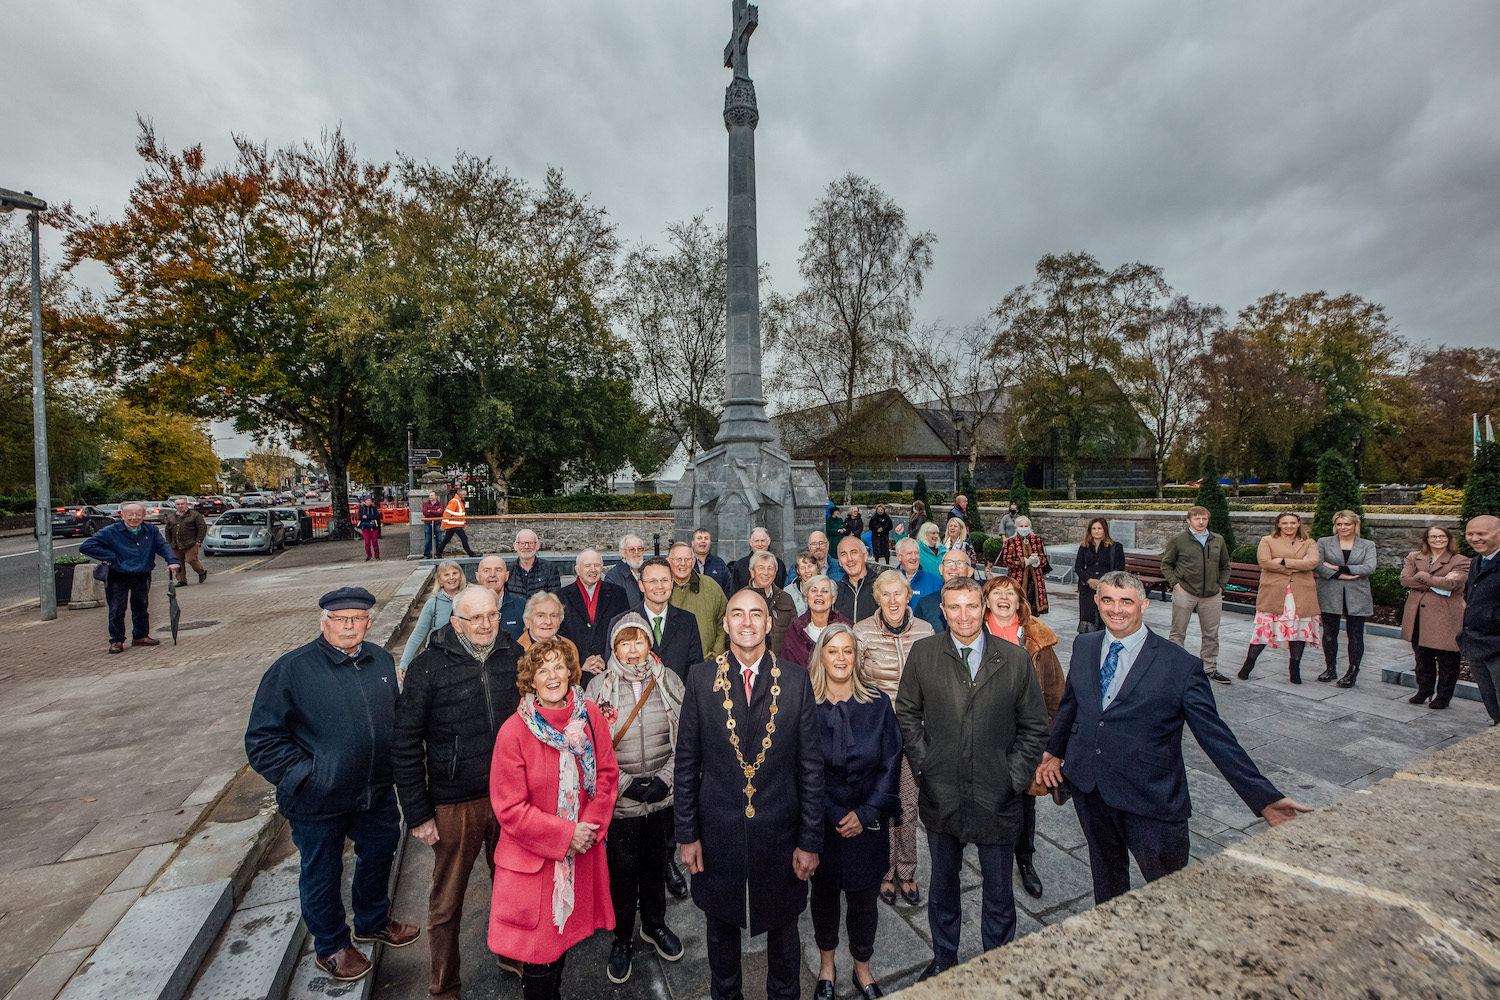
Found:
[[[886, 570], [874, 579], [874, 604], [879, 609], [854, 627], [860, 642], [864, 676], [892, 702], [902, 687], [902, 670], [912, 643], [933, 634], [933, 627], [912, 612], [912, 585], [897, 570]], [[902, 757], [902, 811], [890, 820], [891, 856], [880, 883], [880, 900], [896, 906], [900, 883], [902, 898], [918, 906], [922, 894], [916, 888], [916, 780]]]

